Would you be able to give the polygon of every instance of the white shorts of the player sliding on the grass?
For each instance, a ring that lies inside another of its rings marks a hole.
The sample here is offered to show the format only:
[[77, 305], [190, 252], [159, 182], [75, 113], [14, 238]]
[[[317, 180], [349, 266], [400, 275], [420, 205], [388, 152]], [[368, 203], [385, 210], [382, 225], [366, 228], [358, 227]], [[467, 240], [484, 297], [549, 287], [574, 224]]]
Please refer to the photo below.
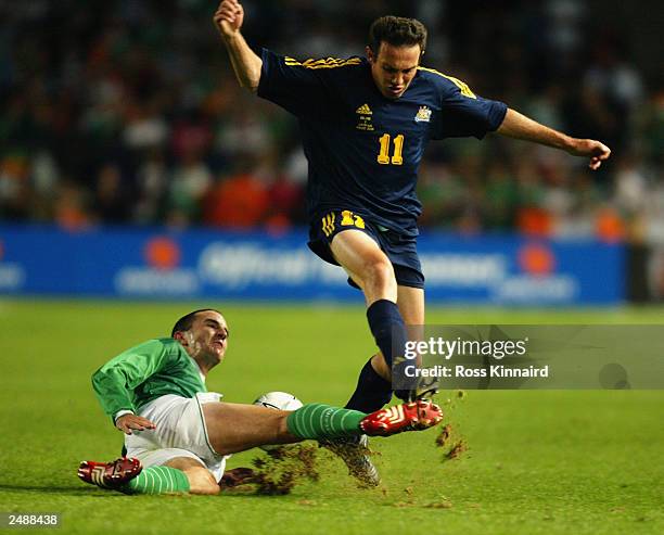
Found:
[[168, 394], [150, 402], [139, 416], [154, 422], [156, 429], [125, 435], [127, 457], [136, 457], [143, 467], [158, 467], [175, 457], [189, 457], [203, 463], [219, 481], [230, 456], [218, 455], [209, 444], [202, 405], [218, 402], [220, 397], [216, 392], [196, 394], [193, 398]]

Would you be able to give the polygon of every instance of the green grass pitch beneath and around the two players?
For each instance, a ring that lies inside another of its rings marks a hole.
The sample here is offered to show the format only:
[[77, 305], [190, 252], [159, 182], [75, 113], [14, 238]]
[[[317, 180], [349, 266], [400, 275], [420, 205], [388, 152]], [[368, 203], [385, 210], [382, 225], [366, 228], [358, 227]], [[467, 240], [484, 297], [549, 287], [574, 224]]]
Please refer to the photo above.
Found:
[[[362, 491], [318, 455], [318, 483], [288, 496], [124, 496], [85, 485], [79, 460], [117, 456], [90, 374], [167, 335], [200, 304], [0, 301], [0, 512], [59, 512], [58, 533], [663, 533], [664, 392], [443, 393], [439, 428], [372, 441], [383, 484]], [[216, 305], [205, 303], [204, 305]], [[208, 388], [229, 402], [293, 392], [343, 404], [373, 344], [359, 306], [219, 305], [231, 329]], [[430, 309], [430, 323], [656, 323], [628, 310]], [[449, 398], [449, 403], [448, 403]], [[460, 455], [447, 459], [462, 441]], [[464, 449], [464, 450], [463, 450]], [[247, 466], [264, 454], [234, 456]]]

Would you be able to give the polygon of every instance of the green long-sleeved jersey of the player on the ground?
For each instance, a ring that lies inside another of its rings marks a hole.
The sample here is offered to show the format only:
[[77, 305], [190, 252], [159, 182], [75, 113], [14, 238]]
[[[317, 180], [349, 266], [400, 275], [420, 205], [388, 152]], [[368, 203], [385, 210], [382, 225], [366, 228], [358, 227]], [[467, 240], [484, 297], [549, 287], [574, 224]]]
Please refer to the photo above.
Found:
[[111, 418], [119, 410], [138, 412], [166, 394], [207, 392], [199, 365], [174, 339], [150, 340], [120, 353], [92, 374], [92, 387]]

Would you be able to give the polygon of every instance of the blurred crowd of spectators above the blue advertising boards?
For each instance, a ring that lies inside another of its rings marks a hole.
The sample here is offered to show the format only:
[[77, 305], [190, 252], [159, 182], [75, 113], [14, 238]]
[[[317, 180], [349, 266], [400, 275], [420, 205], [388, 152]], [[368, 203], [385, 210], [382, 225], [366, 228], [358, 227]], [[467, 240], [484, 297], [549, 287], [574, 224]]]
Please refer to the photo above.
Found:
[[[245, 36], [362, 54], [417, 16], [423, 64], [613, 150], [587, 162], [488, 136], [430, 144], [425, 228], [664, 240], [664, 89], [584, 0], [246, 0]], [[298, 127], [243, 92], [207, 0], [0, 0], [0, 221], [285, 229], [306, 224]]]

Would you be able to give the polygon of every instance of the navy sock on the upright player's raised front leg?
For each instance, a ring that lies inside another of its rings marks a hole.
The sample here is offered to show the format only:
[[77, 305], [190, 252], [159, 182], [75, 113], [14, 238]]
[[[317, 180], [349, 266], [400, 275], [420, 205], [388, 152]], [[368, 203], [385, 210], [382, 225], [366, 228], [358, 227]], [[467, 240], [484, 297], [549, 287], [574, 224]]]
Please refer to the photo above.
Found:
[[[387, 366], [392, 369], [392, 386], [401, 399], [407, 392], [413, 387], [413, 379], [405, 374], [409, 361], [404, 359], [404, 351], [408, 333], [404, 319], [395, 303], [387, 300], [379, 300], [367, 309], [369, 328], [380, 347]], [[396, 366], [393, 366], [396, 361]]]

